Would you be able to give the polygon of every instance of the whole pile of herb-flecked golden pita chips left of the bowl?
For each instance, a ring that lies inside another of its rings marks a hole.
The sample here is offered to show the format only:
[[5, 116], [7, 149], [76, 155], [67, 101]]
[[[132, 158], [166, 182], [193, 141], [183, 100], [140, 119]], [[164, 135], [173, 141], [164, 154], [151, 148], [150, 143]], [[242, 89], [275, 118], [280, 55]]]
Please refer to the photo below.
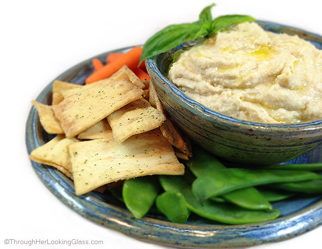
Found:
[[126, 66], [89, 85], [56, 81], [53, 105], [33, 104], [39, 114], [45, 113], [40, 118], [43, 126], [55, 125], [56, 130], [49, 131], [65, 135], [32, 151], [30, 159], [73, 179], [77, 194], [103, 191], [106, 184], [144, 175], [183, 174], [177, 157], [188, 159], [189, 143], [171, 129], [174, 125], [149, 85]]

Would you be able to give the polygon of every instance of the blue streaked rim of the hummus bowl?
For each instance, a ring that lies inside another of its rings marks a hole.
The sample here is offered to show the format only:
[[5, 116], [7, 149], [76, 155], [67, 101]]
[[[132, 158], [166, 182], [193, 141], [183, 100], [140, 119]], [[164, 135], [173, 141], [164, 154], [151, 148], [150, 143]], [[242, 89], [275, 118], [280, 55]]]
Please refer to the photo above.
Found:
[[[311, 37], [316, 37], [318, 39], [321, 39], [321, 42], [322, 42], [322, 36], [321, 35], [316, 34], [316, 33], [312, 33], [312, 32], [308, 32], [308, 31], [303, 30], [303, 29], [300, 29], [300, 28], [296, 28], [296, 27], [293, 27], [293, 26], [288, 26], [288, 25], [280, 24], [280, 23], [277, 23], [277, 22], [271, 22], [271, 21], [257, 20], [255, 22], [257, 22], [259, 24], [277, 25], [277, 26], [281, 26], [281, 27], [284, 27], [284, 28], [294, 29], [294, 30], [303, 32], [304, 34], [307, 34], [307, 35], [309, 35]], [[302, 39], [304, 39], [304, 38], [302, 38]], [[184, 42], [184, 43], [186, 43], [186, 42]], [[181, 46], [184, 43], [181, 43], [178, 46]], [[176, 47], [178, 47], [178, 46], [176, 46]], [[175, 49], [175, 48], [172, 48], [172, 49]], [[170, 50], [172, 50], [172, 49], [170, 49]], [[168, 53], [169, 51], [164, 52], [164, 53]], [[164, 53], [162, 53], [162, 54], [164, 54]], [[200, 104], [197, 101], [194, 101], [194, 100], [190, 99], [174, 83], [172, 83], [171, 81], [169, 81], [161, 73], [161, 71], [159, 70], [159, 68], [158, 68], [158, 66], [156, 64], [157, 58], [160, 55], [161, 54], [156, 55], [156, 56], [153, 56], [150, 59], [147, 59], [146, 62], [145, 62], [146, 67], [149, 68], [152, 72], [154, 72], [156, 74], [156, 76], [159, 78], [159, 80], [161, 82], [165, 83], [165, 85], [167, 85], [169, 87], [169, 89], [174, 93], [175, 97], [179, 98], [181, 100], [181, 102], [185, 103], [185, 105], [186, 105], [186, 107], [188, 109], [199, 107], [199, 110], [202, 110], [202, 111], [199, 112], [202, 116], [205, 116], [205, 117], [208, 117], [208, 118], [210, 117], [210, 118], [212, 118], [214, 120], [215, 119], [216, 120], [221, 119], [225, 123], [229, 123], [231, 125], [238, 125], [240, 127], [245, 127], [245, 128], [249, 128], [249, 126], [252, 126], [252, 127], [261, 127], [263, 130], [268, 130], [270, 128], [271, 129], [273, 128], [275, 130], [278, 130], [279, 128], [301, 128], [300, 130], [312, 130], [312, 129], [317, 130], [317, 129], [322, 129], [322, 120], [309, 121], [309, 122], [300, 122], [300, 123], [288, 123], [288, 124], [274, 124], [274, 123], [267, 123], [267, 124], [265, 124], [265, 123], [257, 123], [257, 122], [251, 122], [251, 121], [240, 120], [240, 119], [237, 119], [237, 118], [232, 118], [232, 117], [226, 116], [224, 114], [221, 114], [219, 112], [216, 112], [214, 110], [211, 110], [208, 107], [206, 107], [205, 105]], [[195, 106], [195, 107], [192, 107], [192, 106]], [[295, 129], [289, 129], [289, 131], [296, 131], [296, 132], [298, 132], [299, 129], [297, 129], [297, 130], [295, 130]]]

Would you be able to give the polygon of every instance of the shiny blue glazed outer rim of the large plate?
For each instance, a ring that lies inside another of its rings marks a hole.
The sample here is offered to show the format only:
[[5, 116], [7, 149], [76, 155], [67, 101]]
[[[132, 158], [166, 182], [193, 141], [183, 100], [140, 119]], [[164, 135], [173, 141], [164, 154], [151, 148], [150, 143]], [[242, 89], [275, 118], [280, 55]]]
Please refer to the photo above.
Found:
[[[51, 81], [40, 92], [39, 96], [37, 97], [37, 101], [41, 102], [45, 94], [47, 94], [48, 91], [51, 90], [52, 84], [55, 80], [61, 80], [71, 71], [87, 65], [94, 58], [103, 58], [110, 53], [124, 52], [132, 47], [135, 46], [114, 49], [77, 63], [76, 65], [61, 73], [53, 81]], [[40, 141], [38, 140], [36, 132], [37, 121], [38, 113], [34, 107], [31, 107], [25, 126], [25, 142], [28, 155], [33, 148], [40, 145]], [[91, 193], [85, 194], [83, 196], [76, 196], [75, 192], [73, 193], [72, 191], [70, 191], [70, 189], [66, 189], [66, 185], [68, 185], [71, 180], [65, 177], [62, 173], [58, 172], [58, 170], [33, 161], [31, 161], [31, 165], [33, 166], [42, 183], [62, 203], [64, 203], [72, 210], [76, 211], [78, 214], [80, 214], [80, 216], [83, 216], [84, 218], [104, 227], [118, 230], [139, 240], [153, 242], [163, 246], [176, 248], [249, 247], [254, 245], [261, 245], [264, 243], [287, 240], [322, 225], [322, 201], [319, 201], [310, 207], [306, 207], [299, 212], [283, 216], [272, 221], [248, 225], [187, 225], [161, 221], [149, 217], [135, 219], [128, 210], [123, 210], [121, 209], [121, 207], [104, 203]], [[94, 204], [97, 205], [97, 207], [91, 210], [90, 205]], [[101, 210], [102, 207], [104, 207], [107, 211], [105, 210], [106, 212], [101, 213], [100, 216], [95, 213], [95, 211]], [[120, 217], [122, 217], [123, 219], [120, 219]], [[303, 222], [303, 220], [306, 219], [310, 219], [311, 222]], [[294, 228], [294, 223], [297, 224], [301, 222], [303, 223], [301, 226]], [[287, 227], [287, 224], [293, 224], [293, 227]], [[267, 232], [267, 230], [276, 227], [280, 227], [280, 234], [275, 235], [272, 234], [272, 231], [270, 231], [270, 233]], [[145, 230], [142, 231], [142, 229]], [[223, 234], [219, 234], [222, 231]], [[241, 232], [248, 235], [246, 237], [241, 237]], [[258, 236], [265, 232], [266, 234], [264, 236]], [[219, 235], [221, 235], [222, 237]], [[225, 236], [225, 239], [223, 238], [223, 236]], [[227, 236], [230, 238], [227, 239]], [[228, 243], [227, 240], [229, 240]]]

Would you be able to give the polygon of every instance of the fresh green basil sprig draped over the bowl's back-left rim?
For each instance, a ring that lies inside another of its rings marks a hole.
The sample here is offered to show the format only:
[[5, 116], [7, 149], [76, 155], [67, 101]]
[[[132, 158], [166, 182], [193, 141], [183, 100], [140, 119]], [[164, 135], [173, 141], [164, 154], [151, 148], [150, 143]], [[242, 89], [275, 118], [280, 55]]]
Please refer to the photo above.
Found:
[[211, 8], [213, 6], [215, 6], [215, 3], [201, 11], [199, 21], [172, 24], [150, 37], [143, 45], [140, 64], [145, 59], [164, 53], [183, 42], [195, 40], [198, 37], [211, 36], [217, 31], [233, 24], [256, 20], [244, 15], [225, 15], [213, 20], [211, 15]]

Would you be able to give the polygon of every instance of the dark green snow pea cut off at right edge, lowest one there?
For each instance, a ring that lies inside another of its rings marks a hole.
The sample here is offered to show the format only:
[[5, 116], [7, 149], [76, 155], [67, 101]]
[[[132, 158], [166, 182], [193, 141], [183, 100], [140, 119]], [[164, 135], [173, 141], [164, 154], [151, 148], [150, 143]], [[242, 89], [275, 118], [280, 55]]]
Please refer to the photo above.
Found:
[[274, 185], [268, 185], [273, 188], [280, 188], [289, 191], [307, 193], [307, 194], [318, 194], [322, 193], [322, 180], [303, 181], [296, 183], [279, 183]]

